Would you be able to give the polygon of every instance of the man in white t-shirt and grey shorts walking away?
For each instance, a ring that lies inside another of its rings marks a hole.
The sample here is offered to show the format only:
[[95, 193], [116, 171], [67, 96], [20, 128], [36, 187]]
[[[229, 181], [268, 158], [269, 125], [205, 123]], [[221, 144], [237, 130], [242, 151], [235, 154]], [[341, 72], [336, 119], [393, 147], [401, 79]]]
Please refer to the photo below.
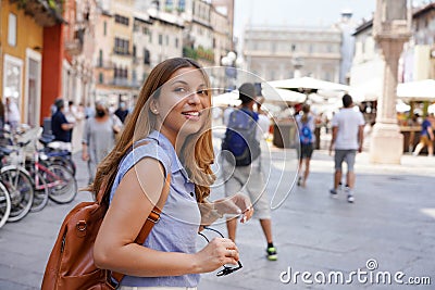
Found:
[[333, 197], [337, 196], [338, 186], [341, 184], [343, 162], [347, 163], [346, 193], [347, 201], [355, 201], [355, 156], [362, 151], [364, 118], [359, 111], [353, 110], [353, 101], [349, 94], [343, 97], [343, 109], [335, 114], [333, 126], [333, 139], [331, 141], [330, 153], [335, 148], [335, 174], [334, 188], [330, 190]]

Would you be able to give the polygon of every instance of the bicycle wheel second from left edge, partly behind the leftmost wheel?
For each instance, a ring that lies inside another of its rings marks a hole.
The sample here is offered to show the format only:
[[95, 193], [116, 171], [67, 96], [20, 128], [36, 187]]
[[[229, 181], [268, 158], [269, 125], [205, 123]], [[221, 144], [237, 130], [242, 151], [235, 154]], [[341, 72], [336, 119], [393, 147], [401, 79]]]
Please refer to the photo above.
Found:
[[1, 168], [1, 181], [11, 197], [11, 213], [8, 222], [25, 217], [34, 202], [34, 185], [29, 174], [22, 167], [9, 165]]

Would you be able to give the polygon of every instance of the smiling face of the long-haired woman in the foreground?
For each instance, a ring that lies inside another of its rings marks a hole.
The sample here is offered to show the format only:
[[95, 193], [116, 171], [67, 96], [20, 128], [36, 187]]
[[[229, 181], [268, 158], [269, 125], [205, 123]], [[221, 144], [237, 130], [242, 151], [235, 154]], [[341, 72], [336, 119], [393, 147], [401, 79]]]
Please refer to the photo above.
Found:
[[209, 117], [210, 96], [202, 73], [196, 67], [176, 71], [151, 102], [161, 131], [174, 144], [176, 138], [198, 133]]

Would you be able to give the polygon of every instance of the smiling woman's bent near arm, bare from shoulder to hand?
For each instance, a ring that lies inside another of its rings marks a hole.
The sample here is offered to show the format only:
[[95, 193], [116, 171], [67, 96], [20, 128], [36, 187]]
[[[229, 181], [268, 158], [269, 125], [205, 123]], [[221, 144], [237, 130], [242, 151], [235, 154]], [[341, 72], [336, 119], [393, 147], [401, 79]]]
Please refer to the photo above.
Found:
[[[215, 239], [197, 254], [161, 252], [134, 242], [160, 199], [163, 172], [158, 161], [144, 159], [126, 173], [97, 236], [96, 265], [132, 276], [158, 277], [211, 272], [237, 263], [237, 248], [228, 239]], [[237, 254], [232, 256], [228, 249]]]

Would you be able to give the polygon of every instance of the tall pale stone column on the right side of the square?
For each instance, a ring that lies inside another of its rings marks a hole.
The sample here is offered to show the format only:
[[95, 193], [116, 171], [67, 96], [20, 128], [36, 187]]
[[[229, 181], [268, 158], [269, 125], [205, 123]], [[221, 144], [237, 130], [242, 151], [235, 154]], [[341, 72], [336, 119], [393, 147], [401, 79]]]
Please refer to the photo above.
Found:
[[396, 88], [398, 61], [403, 43], [410, 37], [407, 14], [407, 0], [377, 0], [373, 36], [384, 55], [385, 73], [370, 142], [370, 161], [373, 163], [399, 164], [403, 152], [403, 136], [396, 115]]

